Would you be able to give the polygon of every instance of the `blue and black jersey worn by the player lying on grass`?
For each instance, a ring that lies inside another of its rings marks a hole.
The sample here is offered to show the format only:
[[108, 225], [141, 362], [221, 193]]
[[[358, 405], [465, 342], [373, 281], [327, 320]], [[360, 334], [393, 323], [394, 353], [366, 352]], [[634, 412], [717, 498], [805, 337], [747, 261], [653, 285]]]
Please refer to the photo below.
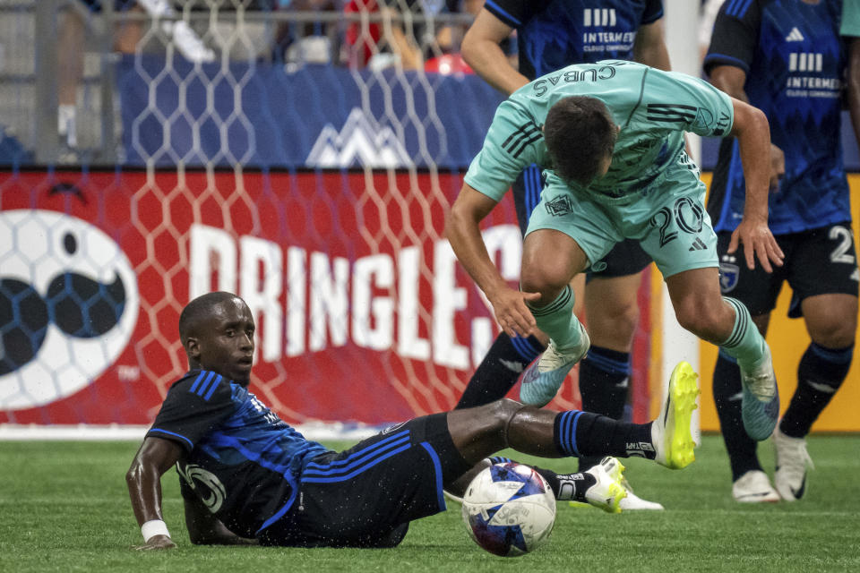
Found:
[[147, 437], [173, 440], [185, 497], [196, 495], [236, 535], [254, 537], [293, 504], [298, 476], [329, 449], [305, 440], [245, 387], [192, 371], [168, 390]]

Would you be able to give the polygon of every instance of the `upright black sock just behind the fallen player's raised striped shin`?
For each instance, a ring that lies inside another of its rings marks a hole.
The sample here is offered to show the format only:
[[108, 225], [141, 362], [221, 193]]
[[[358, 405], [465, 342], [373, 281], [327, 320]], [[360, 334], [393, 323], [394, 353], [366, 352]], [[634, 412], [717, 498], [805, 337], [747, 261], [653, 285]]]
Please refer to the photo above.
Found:
[[[630, 386], [630, 353], [591, 346], [580, 363], [582, 409], [614, 420], [624, 417]], [[600, 463], [602, 457], [582, 456], [580, 471]]]

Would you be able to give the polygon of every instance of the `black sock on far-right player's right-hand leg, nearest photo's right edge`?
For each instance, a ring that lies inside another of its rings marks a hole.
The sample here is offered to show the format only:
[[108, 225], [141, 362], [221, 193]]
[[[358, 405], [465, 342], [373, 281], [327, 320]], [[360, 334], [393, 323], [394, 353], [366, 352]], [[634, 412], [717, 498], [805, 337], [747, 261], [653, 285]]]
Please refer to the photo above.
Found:
[[809, 433], [821, 410], [845, 381], [854, 356], [854, 345], [831, 350], [814, 342], [797, 366], [797, 389], [791, 397], [779, 430], [792, 438]]

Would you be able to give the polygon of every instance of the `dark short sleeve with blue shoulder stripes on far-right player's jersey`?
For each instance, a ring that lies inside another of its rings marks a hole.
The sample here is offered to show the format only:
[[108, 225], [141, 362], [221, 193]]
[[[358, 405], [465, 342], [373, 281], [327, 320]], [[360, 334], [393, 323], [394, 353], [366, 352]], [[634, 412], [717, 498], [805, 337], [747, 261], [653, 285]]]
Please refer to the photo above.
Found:
[[752, 3], [723, 4], [714, 22], [710, 47], [702, 64], [705, 73], [710, 73], [718, 65], [734, 65], [749, 73], [760, 27], [761, 6], [757, 0]]

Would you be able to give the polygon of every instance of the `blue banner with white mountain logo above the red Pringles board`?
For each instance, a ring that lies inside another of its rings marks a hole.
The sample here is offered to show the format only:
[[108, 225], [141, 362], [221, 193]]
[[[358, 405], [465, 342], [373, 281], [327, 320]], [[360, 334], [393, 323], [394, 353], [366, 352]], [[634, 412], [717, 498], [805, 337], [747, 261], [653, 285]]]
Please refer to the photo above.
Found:
[[469, 165], [500, 92], [475, 75], [126, 56], [125, 165]]

